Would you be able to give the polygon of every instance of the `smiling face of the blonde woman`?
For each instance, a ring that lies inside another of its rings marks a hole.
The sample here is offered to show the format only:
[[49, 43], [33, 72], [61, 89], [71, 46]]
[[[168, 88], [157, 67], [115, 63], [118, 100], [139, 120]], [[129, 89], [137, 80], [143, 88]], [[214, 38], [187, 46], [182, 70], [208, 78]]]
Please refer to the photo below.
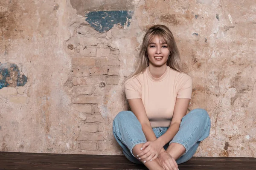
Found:
[[148, 44], [147, 55], [149, 59], [149, 65], [154, 67], [166, 66], [167, 59], [170, 55], [170, 51], [166, 42], [162, 42], [158, 36], [153, 38], [153, 41]]

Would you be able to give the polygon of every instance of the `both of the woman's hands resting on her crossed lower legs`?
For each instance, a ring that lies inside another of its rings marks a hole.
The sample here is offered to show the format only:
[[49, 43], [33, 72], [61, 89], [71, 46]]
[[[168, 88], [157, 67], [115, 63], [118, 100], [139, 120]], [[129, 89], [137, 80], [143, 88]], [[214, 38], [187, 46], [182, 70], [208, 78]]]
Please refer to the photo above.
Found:
[[175, 159], [166, 151], [160, 152], [162, 146], [158, 140], [145, 142], [140, 150], [141, 153], [137, 155], [138, 159], [145, 159], [143, 163], [147, 161], [153, 161], [158, 157], [162, 167], [165, 170], [177, 170], [178, 165]]

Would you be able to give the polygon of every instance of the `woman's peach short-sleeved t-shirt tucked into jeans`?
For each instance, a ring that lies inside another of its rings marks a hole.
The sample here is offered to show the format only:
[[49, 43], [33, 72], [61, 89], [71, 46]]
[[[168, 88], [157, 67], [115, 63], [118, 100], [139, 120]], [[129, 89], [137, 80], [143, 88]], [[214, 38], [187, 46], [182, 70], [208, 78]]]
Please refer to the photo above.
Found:
[[141, 98], [152, 127], [169, 127], [176, 98], [191, 99], [192, 79], [166, 66], [166, 72], [154, 78], [147, 67], [124, 83], [126, 99]]

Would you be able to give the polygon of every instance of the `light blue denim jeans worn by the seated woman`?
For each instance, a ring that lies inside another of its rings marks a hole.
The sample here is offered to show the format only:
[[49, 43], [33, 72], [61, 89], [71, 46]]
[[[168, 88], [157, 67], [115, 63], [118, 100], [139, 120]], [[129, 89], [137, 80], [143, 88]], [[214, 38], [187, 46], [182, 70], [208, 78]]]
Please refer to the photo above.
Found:
[[[169, 127], [152, 128], [156, 137], [162, 136]], [[195, 154], [200, 141], [209, 136], [211, 121], [207, 111], [194, 109], [181, 119], [180, 128], [174, 138], [164, 146], [166, 150], [169, 144], [179, 143], [186, 148], [186, 152], [177, 164], [188, 161]], [[128, 160], [136, 164], [142, 164], [132, 153], [135, 145], [147, 142], [142, 131], [141, 124], [131, 111], [119, 112], [113, 120], [113, 135], [122, 147], [123, 153]]]

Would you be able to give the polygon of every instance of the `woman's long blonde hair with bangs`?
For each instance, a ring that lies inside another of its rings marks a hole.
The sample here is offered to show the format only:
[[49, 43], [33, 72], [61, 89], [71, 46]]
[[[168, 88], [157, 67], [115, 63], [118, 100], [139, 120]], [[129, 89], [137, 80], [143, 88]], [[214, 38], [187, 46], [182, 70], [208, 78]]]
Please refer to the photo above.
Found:
[[164, 25], [154, 25], [151, 26], [148, 31], [146, 32], [144, 38], [143, 38], [143, 43], [141, 45], [141, 49], [140, 49], [140, 55], [139, 55], [139, 62], [137, 65], [137, 68], [135, 69], [135, 71], [129, 75], [128, 77], [125, 78], [125, 80], [122, 82], [122, 84], [130, 79], [133, 76], [136, 76], [138, 74], [140, 74], [142, 71], [145, 70], [145, 68], [148, 67], [149, 65], [149, 59], [147, 57], [147, 49], [148, 49], [148, 45], [152, 42], [152, 40], [154, 39], [154, 37], [158, 37], [162, 42], [166, 42], [167, 43], [167, 48], [170, 51], [170, 56], [167, 59], [167, 65], [178, 71], [178, 72], [182, 72], [182, 68], [181, 68], [181, 62], [180, 62], [180, 53], [179, 50], [177, 48], [176, 42], [174, 40], [173, 34], [172, 32], [169, 30], [169, 28], [167, 26]]

